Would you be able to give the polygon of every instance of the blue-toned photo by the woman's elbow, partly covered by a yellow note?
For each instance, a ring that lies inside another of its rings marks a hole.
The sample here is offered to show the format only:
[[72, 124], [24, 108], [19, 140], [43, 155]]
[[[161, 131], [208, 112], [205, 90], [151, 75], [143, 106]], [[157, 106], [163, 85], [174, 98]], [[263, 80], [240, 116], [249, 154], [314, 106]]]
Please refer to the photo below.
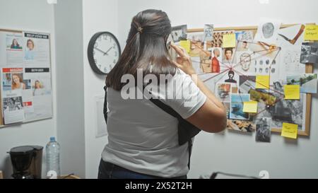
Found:
[[243, 112], [244, 102], [249, 101], [249, 94], [231, 94], [230, 119], [249, 119], [249, 113]]

